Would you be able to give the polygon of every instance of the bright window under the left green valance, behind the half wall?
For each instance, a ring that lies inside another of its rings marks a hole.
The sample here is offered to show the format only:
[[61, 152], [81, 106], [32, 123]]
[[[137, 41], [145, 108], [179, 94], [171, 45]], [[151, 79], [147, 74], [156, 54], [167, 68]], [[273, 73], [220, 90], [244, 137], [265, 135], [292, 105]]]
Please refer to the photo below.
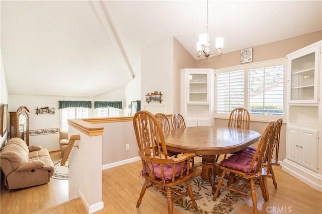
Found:
[[65, 108], [61, 109], [61, 125], [60, 130], [68, 131], [68, 119], [88, 118], [88, 108]]

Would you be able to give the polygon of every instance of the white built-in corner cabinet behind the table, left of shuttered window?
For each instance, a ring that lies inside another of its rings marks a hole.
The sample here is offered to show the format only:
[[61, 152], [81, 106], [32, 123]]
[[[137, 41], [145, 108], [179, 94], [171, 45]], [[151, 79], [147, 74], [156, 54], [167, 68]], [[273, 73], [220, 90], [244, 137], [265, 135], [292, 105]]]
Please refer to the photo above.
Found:
[[214, 125], [214, 69], [181, 69], [180, 113], [187, 127]]

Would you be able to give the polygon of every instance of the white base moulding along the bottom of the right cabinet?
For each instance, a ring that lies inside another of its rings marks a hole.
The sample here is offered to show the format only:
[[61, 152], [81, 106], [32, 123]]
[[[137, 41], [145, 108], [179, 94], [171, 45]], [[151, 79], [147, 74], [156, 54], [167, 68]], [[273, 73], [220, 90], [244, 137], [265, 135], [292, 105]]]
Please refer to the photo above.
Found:
[[318, 173], [308, 170], [287, 158], [283, 160], [282, 169], [310, 187], [322, 192], [322, 176]]

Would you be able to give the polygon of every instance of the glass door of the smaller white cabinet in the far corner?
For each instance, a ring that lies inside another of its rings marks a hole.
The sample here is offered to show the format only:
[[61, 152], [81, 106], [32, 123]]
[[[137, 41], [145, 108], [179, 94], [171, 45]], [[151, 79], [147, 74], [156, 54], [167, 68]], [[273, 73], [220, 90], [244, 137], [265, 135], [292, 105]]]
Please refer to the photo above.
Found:
[[208, 101], [208, 74], [189, 73], [189, 95], [188, 102]]

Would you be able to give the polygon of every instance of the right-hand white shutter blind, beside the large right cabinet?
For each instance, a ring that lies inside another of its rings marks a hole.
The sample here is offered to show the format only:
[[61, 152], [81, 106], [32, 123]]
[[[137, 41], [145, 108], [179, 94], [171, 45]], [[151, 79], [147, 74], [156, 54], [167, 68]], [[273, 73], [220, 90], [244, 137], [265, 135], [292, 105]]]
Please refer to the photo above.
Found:
[[248, 111], [251, 115], [284, 116], [284, 65], [248, 70]]

